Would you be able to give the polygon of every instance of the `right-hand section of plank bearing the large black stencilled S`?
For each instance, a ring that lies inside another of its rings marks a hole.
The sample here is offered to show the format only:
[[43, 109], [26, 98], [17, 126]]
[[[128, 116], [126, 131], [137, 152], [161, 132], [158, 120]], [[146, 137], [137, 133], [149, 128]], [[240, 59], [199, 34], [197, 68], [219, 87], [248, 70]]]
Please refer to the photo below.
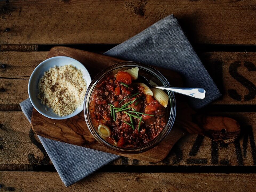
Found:
[[256, 53], [209, 52], [200, 58], [223, 95], [214, 104], [256, 104]]

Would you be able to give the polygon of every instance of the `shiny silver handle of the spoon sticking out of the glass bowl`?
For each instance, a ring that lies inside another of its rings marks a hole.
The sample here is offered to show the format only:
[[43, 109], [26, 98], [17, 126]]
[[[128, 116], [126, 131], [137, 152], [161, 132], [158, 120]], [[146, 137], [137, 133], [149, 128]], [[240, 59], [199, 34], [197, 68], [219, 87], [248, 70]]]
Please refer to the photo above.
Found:
[[177, 87], [162, 87], [162, 86], [151, 86], [152, 88], [162, 89], [167, 91], [172, 91], [175, 93], [180, 93], [197, 99], [205, 98], [205, 89], [203, 88], [177, 88]]

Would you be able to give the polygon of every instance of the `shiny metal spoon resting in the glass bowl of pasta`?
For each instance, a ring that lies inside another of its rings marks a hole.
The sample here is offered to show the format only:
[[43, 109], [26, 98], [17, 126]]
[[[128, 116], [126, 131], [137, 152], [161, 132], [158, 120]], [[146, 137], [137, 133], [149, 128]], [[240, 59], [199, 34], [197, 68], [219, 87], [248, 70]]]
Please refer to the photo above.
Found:
[[142, 76], [142, 75], [138, 75], [138, 82], [143, 82], [145, 83], [147, 86], [155, 88], [155, 89], [162, 89], [162, 90], [167, 90], [167, 91], [172, 91], [174, 93], [180, 93], [183, 95], [187, 95], [189, 97], [194, 97], [197, 99], [203, 99], [205, 98], [205, 89], [203, 88], [178, 88], [178, 87], [163, 87], [163, 86], [155, 86], [155, 85], [151, 85], [150, 81]]

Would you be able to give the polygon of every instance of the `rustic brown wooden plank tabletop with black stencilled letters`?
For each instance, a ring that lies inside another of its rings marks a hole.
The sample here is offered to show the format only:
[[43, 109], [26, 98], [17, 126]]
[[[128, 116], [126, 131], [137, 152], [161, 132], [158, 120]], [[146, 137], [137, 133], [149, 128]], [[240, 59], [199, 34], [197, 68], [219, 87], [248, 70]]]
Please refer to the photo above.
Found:
[[[240, 140], [189, 135], [66, 188], [19, 106], [32, 71], [53, 46], [103, 53], [172, 13], [223, 94], [201, 111], [236, 119]], [[256, 0], [0, 1], [0, 191], [255, 191], [255, 45]]]

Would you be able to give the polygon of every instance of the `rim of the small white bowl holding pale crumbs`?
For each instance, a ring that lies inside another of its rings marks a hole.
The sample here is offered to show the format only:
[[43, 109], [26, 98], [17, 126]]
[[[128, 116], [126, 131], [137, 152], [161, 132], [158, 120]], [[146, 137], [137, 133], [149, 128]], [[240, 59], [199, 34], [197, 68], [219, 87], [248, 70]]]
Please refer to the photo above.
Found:
[[[81, 113], [81, 112], [83, 111], [83, 108], [81, 107], [81, 110], [74, 111], [74, 112], [71, 113], [70, 115], [66, 115], [66, 116], [63, 116], [63, 117], [52, 117], [52, 116], [49, 116], [49, 115], [47, 115], [47, 114], [42, 113], [42, 111], [38, 109], [38, 107], [34, 104], [34, 101], [33, 101], [32, 97], [31, 97], [31, 94], [32, 94], [32, 93], [30, 93], [31, 81], [32, 81], [32, 79], [33, 79], [33, 76], [34, 76], [35, 72], [36, 72], [42, 65], [44, 65], [46, 62], [48, 62], [48, 61], [50, 61], [50, 60], [54, 60], [54, 59], [71, 59], [71, 60], [73, 60], [73, 61], [75, 61], [75, 62], [80, 63], [80, 64], [82, 65], [82, 67], [84, 68], [84, 70], [86, 71], [86, 73], [88, 74], [88, 77], [89, 77], [89, 79], [90, 79], [90, 82], [86, 82], [87, 89], [88, 89], [88, 87], [89, 87], [89, 85], [90, 85], [90, 83], [91, 83], [91, 76], [90, 76], [89, 71], [86, 69], [86, 67], [85, 67], [81, 62], [79, 62], [78, 60], [76, 60], [76, 59], [74, 59], [74, 58], [72, 58], [72, 57], [67, 57], [67, 56], [55, 56], [55, 57], [50, 57], [50, 58], [48, 58], [48, 59], [42, 61], [37, 67], [35, 67], [35, 69], [34, 69], [33, 72], [31, 73], [30, 78], [29, 78], [29, 83], [28, 83], [29, 99], [30, 99], [30, 102], [32, 103], [33, 107], [34, 107], [34, 108], [38, 111], [38, 113], [40, 113], [41, 115], [43, 115], [43, 116], [45, 116], [45, 117], [47, 117], [47, 118], [50, 118], [50, 119], [57, 119], [57, 120], [68, 119], [68, 118], [74, 117], [75, 115], [78, 115], [79, 113]], [[71, 65], [72, 65], [72, 64], [71, 64]], [[74, 66], [74, 65], [73, 65], [73, 66]], [[76, 67], [76, 66], [75, 66], [75, 67]], [[52, 67], [50, 67], [50, 68], [52, 68]], [[50, 68], [49, 68], [49, 69], [50, 69]], [[77, 67], [76, 67], [76, 68], [77, 68]], [[48, 69], [48, 70], [49, 70], [49, 69]], [[78, 68], [77, 68], [77, 69], [78, 69]], [[87, 91], [87, 90], [86, 90], [86, 91]], [[38, 99], [38, 98], [37, 98], [37, 99]], [[40, 102], [41, 102], [41, 101], [40, 101]], [[42, 104], [42, 105], [43, 105], [43, 104]]]

